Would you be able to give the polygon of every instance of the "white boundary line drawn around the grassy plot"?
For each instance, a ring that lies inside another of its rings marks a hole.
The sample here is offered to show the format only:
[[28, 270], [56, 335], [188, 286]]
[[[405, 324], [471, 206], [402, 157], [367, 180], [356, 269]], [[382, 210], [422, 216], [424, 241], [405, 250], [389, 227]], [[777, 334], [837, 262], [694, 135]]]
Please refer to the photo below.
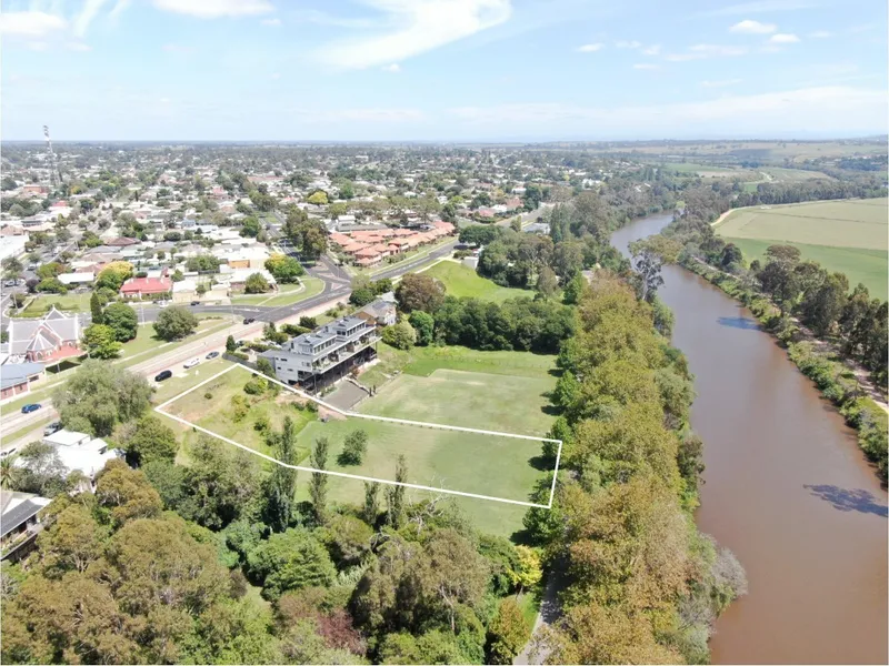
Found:
[[530, 436], [530, 435], [517, 435], [517, 434], [513, 434], [513, 433], [501, 433], [501, 432], [497, 432], [497, 431], [476, 430], [476, 428], [471, 428], [471, 427], [460, 427], [460, 426], [457, 426], [457, 425], [444, 425], [444, 424], [440, 424], [440, 423], [424, 423], [424, 422], [421, 422], [421, 421], [406, 421], [406, 420], [402, 420], [402, 418], [389, 418], [389, 417], [386, 417], [386, 416], [372, 416], [372, 415], [368, 415], [368, 414], [358, 414], [357, 412], [343, 412], [342, 410], [340, 410], [338, 407], [334, 407], [333, 405], [331, 405], [329, 403], [326, 403], [326, 402], [323, 402], [321, 400], [318, 400], [317, 397], [312, 397], [308, 393], [303, 393], [302, 391], [299, 391], [298, 389], [294, 389], [293, 386], [290, 386], [288, 384], [282, 383], [282, 382], [279, 382], [278, 380], [274, 380], [272, 377], [269, 377], [269, 376], [266, 376], [266, 375], [261, 375], [262, 379], [268, 380], [270, 382], [273, 382], [274, 384], [278, 384], [280, 386], [283, 386], [288, 391], [291, 391], [292, 393], [296, 393], [297, 395], [300, 395], [302, 397], [306, 397], [307, 400], [310, 400], [310, 401], [312, 401], [314, 403], [318, 403], [318, 404], [324, 406], [328, 410], [337, 412], [338, 414], [342, 414], [346, 417], [352, 416], [352, 417], [358, 417], [358, 418], [372, 418], [372, 420], [378, 420], [378, 421], [388, 421], [388, 422], [400, 423], [400, 424], [406, 424], [406, 425], [419, 425], [419, 426], [433, 427], [433, 428], [439, 428], [439, 430], [452, 430], [452, 431], [460, 431], [460, 432], [477, 433], [477, 434], [482, 434], [482, 435], [501, 436], [501, 437], [513, 437], [513, 438], [518, 438], [518, 440], [531, 440], [531, 441], [537, 441], [537, 442], [553, 442], [553, 443], [558, 443], [559, 444], [559, 450], [556, 453], [556, 468], [553, 470], [553, 473], [552, 473], [552, 486], [551, 486], [550, 492], [549, 492], [549, 502], [547, 504], [538, 504], [536, 502], [522, 502], [520, 500], [507, 500], [505, 497], [492, 497], [490, 495], [480, 495], [478, 493], [465, 493], [462, 491], [449, 491], [449, 490], [446, 490], [446, 488], [438, 488], [438, 487], [420, 485], [420, 484], [416, 484], [416, 483], [404, 483], [404, 482], [399, 482], [399, 481], [391, 481], [389, 478], [376, 478], [376, 477], [372, 477], [372, 476], [362, 476], [360, 474], [348, 474], [346, 472], [334, 472], [332, 470], [317, 470], [314, 467], [303, 467], [301, 465], [290, 465], [288, 463], [282, 463], [278, 458], [274, 458], [274, 457], [272, 457], [270, 455], [266, 455], [264, 453], [260, 453], [259, 451], [256, 451], [254, 448], [250, 448], [249, 446], [244, 446], [243, 444], [239, 444], [234, 440], [229, 440], [228, 437], [224, 437], [224, 436], [222, 436], [222, 435], [220, 435], [218, 433], [209, 431], [206, 427], [201, 427], [200, 425], [197, 425], [197, 424], [194, 424], [194, 423], [192, 423], [190, 421], [187, 421], [187, 420], [184, 420], [184, 418], [182, 418], [180, 416], [174, 416], [173, 414], [170, 414], [170, 413], [163, 411], [163, 408], [167, 405], [169, 405], [170, 403], [173, 403], [177, 400], [179, 400], [180, 397], [183, 397], [183, 396], [188, 395], [192, 391], [197, 391], [198, 389], [200, 389], [204, 384], [209, 384], [213, 380], [222, 376], [227, 372], [231, 372], [236, 367], [243, 367], [243, 370], [246, 370], [247, 372], [249, 372], [252, 375], [261, 375], [261, 373], [259, 373], [259, 372], [257, 372], [254, 370], [251, 370], [250, 367], [247, 367], [244, 365], [240, 365], [238, 363], [232, 363], [226, 370], [223, 370], [221, 372], [218, 372], [217, 374], [212, 375], [211, 377], [208, 377], [208, 379], [203, 380], [202, 382], [200, 382], [199, 384], [196, 384], [191, 389], [187, 389], [182, 393], [180, 393], [178, 395], [174, 395], [173, 397], [169, 398], [168, 401], [164, 401], [163, 403], [161, 403], [160, 405], [154, 407], [154, 411], [158, 414], [162, 414], [162, 415], [167, 416], [168, 418], [172, 418], [173, 421], [178, 421], [179, 423], [181, 423], [183, 425], [188, 425], [188, 426], [190, 426], [190, 427], [192, 427], [194, 430], [198, 430], [198, 431], [200, 431], [200, 432], [202, 432], [202, 433], [204, 433], [207, 435], [210, 435], [211, 437], [216, 437], [217, 440], [221, 440], [221, 441], [223, 441], [223, 442], [226, 442], [228, 444], [237, 446], [238, 448], [247, 451], [248, 453], [251, 453], [251, 454], [253, 454], [256, 456], [259, 456], [259, 457], [261, 457], [263, 460], [267, 460], [267, 461], [269, 461], [271, 463], [276, 463], [278, 465], [281, 465], [282, 467], [289, 467], [290, 470], [298, 470], [300, 472], [311, 472], [311, 473], [318, 473], [318, 474], [328, 474], [330, 476], [340, 476], [340, 477], [343, 477], [343, 478], [354, 478], [354, 480], [358, 480], [358, 481], [370, 481], [370, 482], [383, 483], [383, 484], [387, 484], [387, 485], [394, 485], [394, 486], [403, 486], [403, 487], [407, 487], [407, 488], [414, 488], [414, 490], [418, 490], [418, 491], [431, 491], [433, 493], [444, 493], [447, 495], [458, 495], [460, 497], [473, 497], [476, 500], [488, 500], [490, 502], [501, 502], [503, 504], [518, 504], [520, 506], [531, 506], [531, 507], [537, 507], [537, 508], [552, 508], [552, 498], [556, 495], [556, 481], [557, 481], [557, 476], [558, 476], [558, 473], [559, 473], [559, 461], [560, 461], [561, 454], [562, 454], [562, 441], [561, 440], [548, 440], [546, 437], [533, 437], [533, 436]]

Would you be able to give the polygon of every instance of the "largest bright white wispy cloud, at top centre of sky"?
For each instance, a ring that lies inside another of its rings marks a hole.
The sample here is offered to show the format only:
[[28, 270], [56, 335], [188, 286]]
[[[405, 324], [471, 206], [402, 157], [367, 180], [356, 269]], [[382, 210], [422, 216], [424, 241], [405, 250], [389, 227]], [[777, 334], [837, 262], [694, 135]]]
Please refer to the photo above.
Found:
[[[172, 1], [172, 0], [169, 0]], [[326, 44], [322, 62], [364, 69], [407, 60], [509, 20], [510, 0], [363, 0], [386, 16], [391, 28], [371, 37]]]

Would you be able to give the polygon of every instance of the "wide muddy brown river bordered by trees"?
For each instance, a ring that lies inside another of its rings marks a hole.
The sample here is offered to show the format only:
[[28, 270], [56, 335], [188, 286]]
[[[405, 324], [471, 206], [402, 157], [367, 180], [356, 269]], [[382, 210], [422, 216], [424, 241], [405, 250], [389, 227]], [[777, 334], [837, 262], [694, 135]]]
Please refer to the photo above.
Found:
[[[626, 252], [669, 221], [635, 221], [612, 243]], [[662, 275], [705, 443], [696, 519], [749, 582], [716, 624], [712, 662], [886, 664], [887, 496], [855, 431], [746, 307], [679, 266]]]

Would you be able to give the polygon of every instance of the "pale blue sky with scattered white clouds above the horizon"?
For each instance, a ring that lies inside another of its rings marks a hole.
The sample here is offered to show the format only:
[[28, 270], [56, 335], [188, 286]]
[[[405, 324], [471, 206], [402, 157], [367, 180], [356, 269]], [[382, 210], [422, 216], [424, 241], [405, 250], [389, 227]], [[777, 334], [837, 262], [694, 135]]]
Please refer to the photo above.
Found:
[[4, 0], [0, 137], [887, 133], [885, 0]]

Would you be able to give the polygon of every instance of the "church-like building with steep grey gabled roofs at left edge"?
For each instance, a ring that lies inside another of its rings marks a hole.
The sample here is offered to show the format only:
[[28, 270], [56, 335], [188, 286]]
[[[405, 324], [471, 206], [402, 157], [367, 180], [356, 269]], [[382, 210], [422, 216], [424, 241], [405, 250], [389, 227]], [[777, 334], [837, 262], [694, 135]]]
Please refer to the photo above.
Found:
[[30, 361], [52, 365], [81, 354], [82, 325], [78, 314], [64, 314], [54, 306], [40, 319], [10, 319], [7, 334], [9, 342], [0, 349], [12, 363]]

